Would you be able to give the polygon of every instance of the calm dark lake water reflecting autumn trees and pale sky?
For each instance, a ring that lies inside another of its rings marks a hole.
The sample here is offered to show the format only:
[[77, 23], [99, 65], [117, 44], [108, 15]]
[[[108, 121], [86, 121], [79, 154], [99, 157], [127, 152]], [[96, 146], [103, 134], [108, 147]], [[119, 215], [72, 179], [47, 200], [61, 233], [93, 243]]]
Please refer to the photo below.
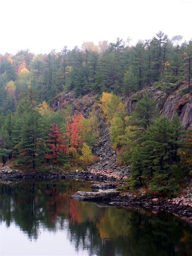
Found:
[[174, 215], [70, 199], [83, 181], [0, 183], [0, 255], [192, 255], [192, 228]]

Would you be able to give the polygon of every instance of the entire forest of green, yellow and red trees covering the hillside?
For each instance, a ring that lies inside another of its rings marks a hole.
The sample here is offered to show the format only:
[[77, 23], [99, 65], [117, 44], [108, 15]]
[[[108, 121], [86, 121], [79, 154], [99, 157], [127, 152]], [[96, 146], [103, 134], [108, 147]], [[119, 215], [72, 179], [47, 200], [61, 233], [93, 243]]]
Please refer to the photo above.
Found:
[[[158, 32], [151, 40], [126, 45], [102, 41], [81, 49], [34, 55], [29, 49], [0, 55], [0, 145], [3, 165], [15, 159], [28, 169], [70, 169], [97, 161], [93, 147], [99, 139], [100, 107], [110, 124], [119, 164], [130, 164], [130, 188], [174, 192], [191, 174], [191, 135], [177, 115], [160, 116], [151, 94], [136, 99], [128, 115], [124, 98], [154, 86], [165, 93], [186, 84], [180, 95], [190, 96], [192, 41], [179, 44]], [[53, 111], [51, 100], [74, 91], [75, 97], [98, 95], [88, 118], [74, 114], [66, 102]], [[96, 106], [97, 105], [97, 106]]]

